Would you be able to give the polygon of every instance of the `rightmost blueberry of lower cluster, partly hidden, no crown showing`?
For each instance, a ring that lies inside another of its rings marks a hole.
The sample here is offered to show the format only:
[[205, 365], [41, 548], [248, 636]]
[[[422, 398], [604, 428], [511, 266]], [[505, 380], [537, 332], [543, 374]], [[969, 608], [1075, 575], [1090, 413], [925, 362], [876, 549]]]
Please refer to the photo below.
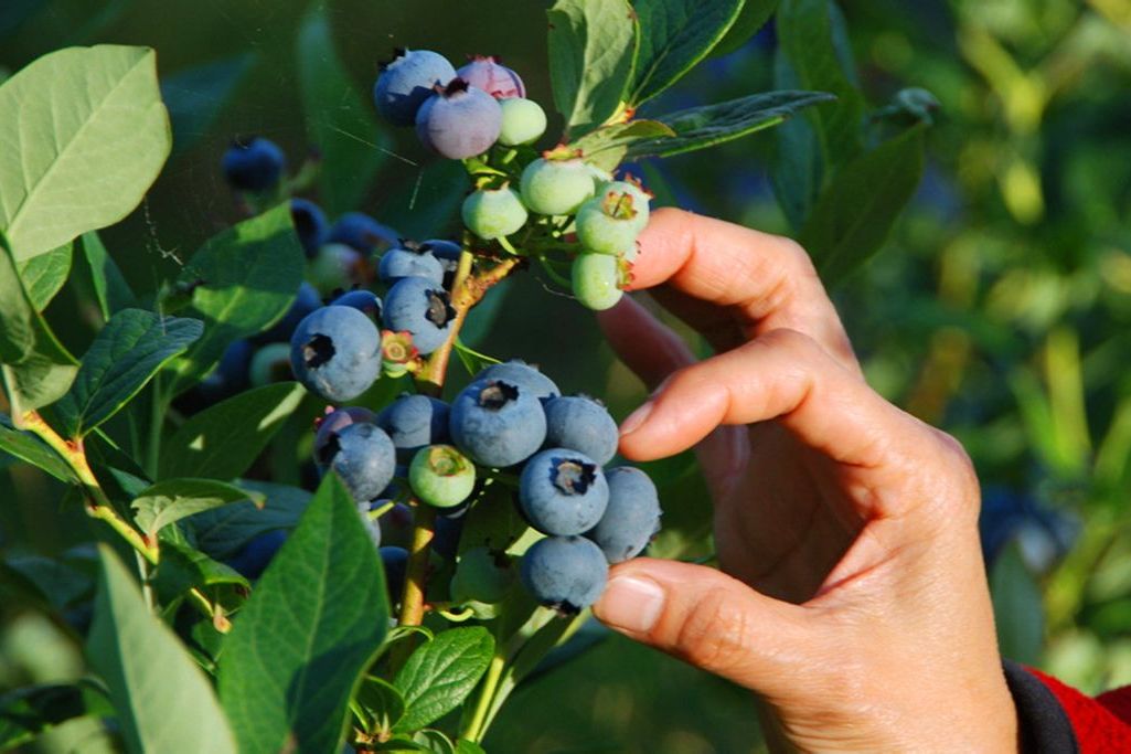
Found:
[[610, 563], [640, 555], [659, 531], [659, 496], [648, 474], [632, 466], [605, 472], [608, 507], [586, 537], [597, 543]]

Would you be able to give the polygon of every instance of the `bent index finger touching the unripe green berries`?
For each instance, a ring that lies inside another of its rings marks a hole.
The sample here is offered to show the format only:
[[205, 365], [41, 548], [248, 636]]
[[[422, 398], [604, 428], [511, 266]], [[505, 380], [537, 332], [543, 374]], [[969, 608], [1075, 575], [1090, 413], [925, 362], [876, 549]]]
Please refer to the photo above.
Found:
[[791, 239], [682, 209], [657, 209], [640, 234], [629, 290], [662, 284], [729, 310], [748, 339], [795, 329], [858, 369], [817, 269]]

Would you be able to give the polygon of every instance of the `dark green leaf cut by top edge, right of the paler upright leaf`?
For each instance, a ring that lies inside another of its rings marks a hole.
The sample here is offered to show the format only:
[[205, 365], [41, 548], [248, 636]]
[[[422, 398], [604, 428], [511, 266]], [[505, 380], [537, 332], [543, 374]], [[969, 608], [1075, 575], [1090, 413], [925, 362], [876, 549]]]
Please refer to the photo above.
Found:
[[742, 5], [743, 0], [637, 2], [640, 53], [629, 103], [639, 106], [694, 68], [731, 28]]

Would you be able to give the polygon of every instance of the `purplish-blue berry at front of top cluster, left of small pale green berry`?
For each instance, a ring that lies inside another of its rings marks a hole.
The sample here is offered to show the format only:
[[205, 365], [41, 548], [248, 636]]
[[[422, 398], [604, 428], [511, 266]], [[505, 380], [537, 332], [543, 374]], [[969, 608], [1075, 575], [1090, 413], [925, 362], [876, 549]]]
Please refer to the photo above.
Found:
[[461, 78], [452, 79], [416, 113], [416, 136], [424, 146], [449, 160], [483, 154], [501, 129], [499, 102]]

